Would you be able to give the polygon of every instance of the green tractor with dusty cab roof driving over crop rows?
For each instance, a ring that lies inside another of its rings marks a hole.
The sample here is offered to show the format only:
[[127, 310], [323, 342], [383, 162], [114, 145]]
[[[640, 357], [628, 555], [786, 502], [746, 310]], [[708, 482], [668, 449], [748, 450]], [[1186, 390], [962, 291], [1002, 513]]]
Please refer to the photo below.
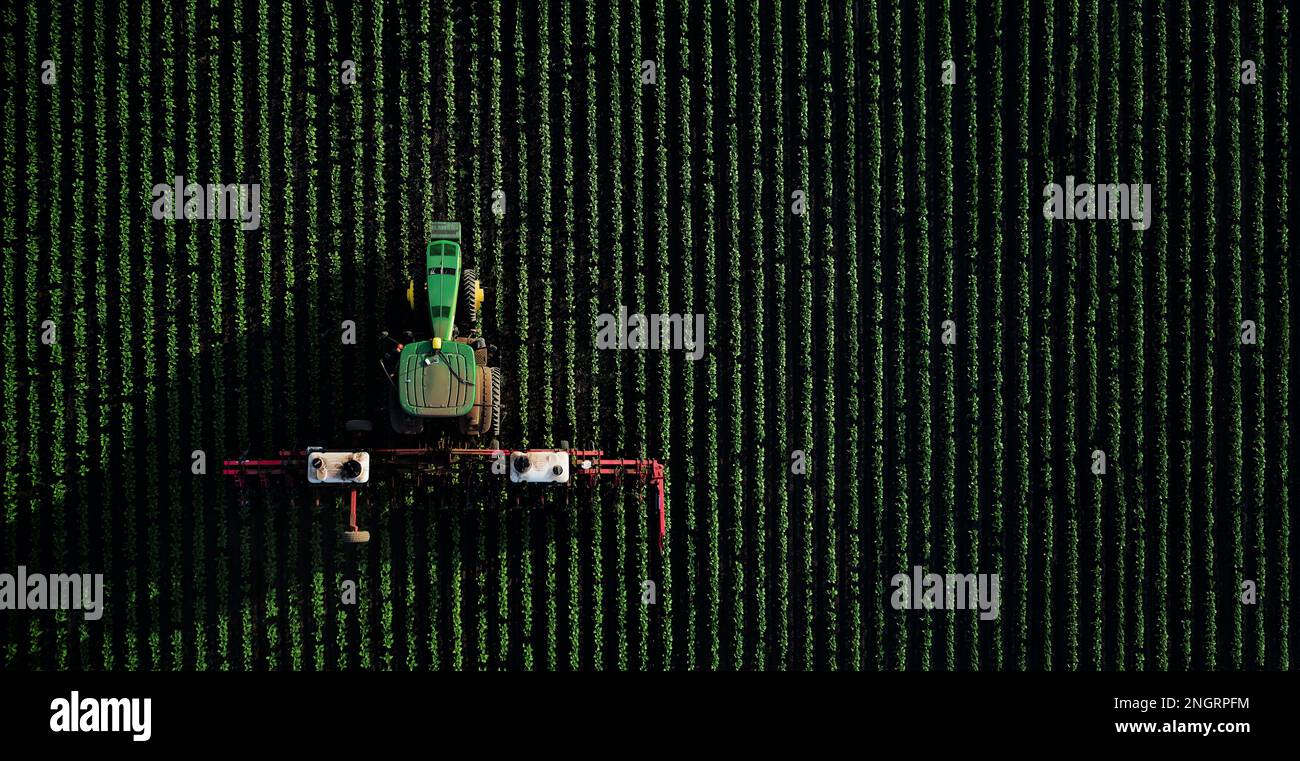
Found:
[[410, 278], [404, 294], [412, 311], [425, 297], [433, 336], [415, 341], [408, 330], [408, 340], [393, 341], [396, 349], [385, 358], [393, 381], [389, 421], [398, 433], [420, 433], [434, 418], [456, 419], [467, 436], [500, 434], [502, 373], [488, 367], [489, 347], [478, 328], [484, 289], [463, 259], [460, 222], [434, 222], [424, 269]]

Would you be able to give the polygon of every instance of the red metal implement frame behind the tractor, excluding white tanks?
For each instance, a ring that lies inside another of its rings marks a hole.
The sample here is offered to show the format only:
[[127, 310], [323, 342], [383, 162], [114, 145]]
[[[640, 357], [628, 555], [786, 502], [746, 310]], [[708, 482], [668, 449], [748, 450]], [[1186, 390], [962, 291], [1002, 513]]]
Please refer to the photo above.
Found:
[[[370, 455], [372, 464], [407, 468], [430, 470], [450, 467], [456, 457], [508, 457], [508, 449], [365, 449]], [[538, 451], [538, 450], [530, 450]], [[546, 451], [546, 450], [542, 450]], [[569, 454], [569, 475], [586, 476], [594, 481], [599, 476], [614, 476], [615, 480], [623, 476], [645, 479], [655, 488], [655, 506], [659, 515], [659, 550], [663, 552], [663, 541], [667, 533], [667, 515], [664, 514], [663, 492], [663, 463], [656, 459], [624, 459], [606, 458], [599, 450], [551, 450], [567, 451]], [[234, 476], [235, 481], [243, 487], [244, 479], [256, 477], [261, 485], [268, 485], [269, 476], [292, 475], [306, 468], [307, 450], [281, 450], [274, 459], [228, 459], [221, 463], [221, 475]], [[438, 457], [446, 457], [445, 462], [438, 462]], [[351, 509], [348, 526], [356, 531], [356, 488], [351, 490]]]

